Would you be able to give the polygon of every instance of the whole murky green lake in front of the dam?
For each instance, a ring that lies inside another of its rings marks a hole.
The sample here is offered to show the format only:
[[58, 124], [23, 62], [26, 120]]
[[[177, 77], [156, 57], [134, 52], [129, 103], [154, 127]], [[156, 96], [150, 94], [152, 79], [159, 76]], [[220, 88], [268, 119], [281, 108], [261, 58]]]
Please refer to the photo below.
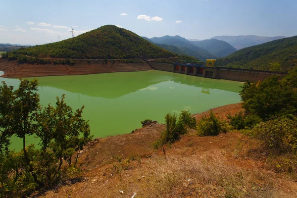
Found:
[[[3, 72], [0, 73], [2, 75]], [[29, 78], [33, 79], [33, 78]], [[18, 79], [0, 78], [18, 86]], [[66, 95], [73, 109], [85, 105], [83, 116], [90, 120], [94, 137], [130, 133], [145, 119], [164, 122], [166, 113], [190, 110], [192, 114], [240, 102], [243, 83], [214, 80], [163, 71], [105, 73], [78, 76], [38, 77], [41, 104], [54, 105], [56, 96]], [[27, 138], [28, 145], [37, 143]], [[11, 138], [12, 148], [21, 140]]]

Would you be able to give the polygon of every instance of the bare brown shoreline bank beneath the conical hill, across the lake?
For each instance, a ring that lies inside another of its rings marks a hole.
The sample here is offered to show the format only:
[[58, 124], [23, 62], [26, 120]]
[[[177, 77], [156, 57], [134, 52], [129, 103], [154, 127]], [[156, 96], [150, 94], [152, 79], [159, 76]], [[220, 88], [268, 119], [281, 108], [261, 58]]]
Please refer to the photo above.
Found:
[[40, 64], [18, 64], [16, 61], [0, 60], [0, 71], [4, 71], [2, 77], [38, 77], [58, 75], [82, 75], [110, 72], [146, 71], [151, 67], [143, 63], [95, 63], [86, 64], [80, 61], [74, 66], [69, 65], [40, 65]]

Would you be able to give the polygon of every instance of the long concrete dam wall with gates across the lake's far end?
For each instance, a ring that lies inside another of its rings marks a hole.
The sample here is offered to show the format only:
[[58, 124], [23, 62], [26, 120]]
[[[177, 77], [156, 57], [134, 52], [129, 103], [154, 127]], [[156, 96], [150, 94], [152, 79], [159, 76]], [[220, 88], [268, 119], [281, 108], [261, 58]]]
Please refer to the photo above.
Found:
[[283, 78], [285, 75], [288, 74], [287, 72], [236, 69], [227, 67], [206, 67], [192, 64], [165, 63], [154, 61], [148, 61], [148, 65], [155, 70], [240, 82], [245, 82], [246, 80], [263, 81], [264, 79], [274, 75], [278, 75], [280, 78]]

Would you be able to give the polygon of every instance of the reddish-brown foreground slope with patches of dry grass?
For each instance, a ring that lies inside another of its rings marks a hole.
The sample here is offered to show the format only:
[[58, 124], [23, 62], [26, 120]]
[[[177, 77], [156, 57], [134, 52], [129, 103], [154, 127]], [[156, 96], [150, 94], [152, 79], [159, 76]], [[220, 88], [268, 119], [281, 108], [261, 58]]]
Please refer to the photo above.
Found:
[[[241, 104], [214, 108], [219, 117]], [[207, 112], [195, 115], [200, 119]], [[265, 157], [248, 157], [253, 141], [239, 132], [198, 137], [192, 130], [171, 148], [153, 149], [165, 125], [90, 142], [79, 157], [83, 180], [45, 192], [45, 198], [297, 197], [297, 183], [265, 169]], [[249, 141], [248, 141], [249, 140]], [[136, 161], [120, 164], [116, 156]], [[116, 169], [114, 168], [116, 167]], [[117, 171], [116, 171], [117, 170]]]

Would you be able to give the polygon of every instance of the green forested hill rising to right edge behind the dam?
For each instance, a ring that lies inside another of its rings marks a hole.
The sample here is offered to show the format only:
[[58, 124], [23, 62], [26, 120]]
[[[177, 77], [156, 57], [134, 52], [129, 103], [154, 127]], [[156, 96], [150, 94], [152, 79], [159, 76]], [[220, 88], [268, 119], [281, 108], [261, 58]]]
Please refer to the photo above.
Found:
[[297, 66], [297, 36], [240, 49], [219, 58], [217, 66], [288, 71]]

